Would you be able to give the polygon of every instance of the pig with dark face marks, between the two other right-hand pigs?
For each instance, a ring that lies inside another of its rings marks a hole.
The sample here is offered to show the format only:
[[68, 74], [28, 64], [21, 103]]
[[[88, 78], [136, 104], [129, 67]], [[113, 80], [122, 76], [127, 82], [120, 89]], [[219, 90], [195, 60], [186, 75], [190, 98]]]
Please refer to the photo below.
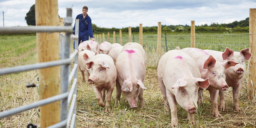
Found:
[[[226, 83], [224, 70], [231, 66], [235, 66], [238, 63], [232, 60], [220, 62], [209, 55], [207, 52], [198, 48], [183, 48], [181, 51], [186, 52], [189, 56], [191, 56], [191, 58], [196, 60], [197, 66], [201, 73], [201, 78], [209, 78], [209, 82], [211, 84], [208, 88], [206, 88], [206, 90], [210, 92], [213, 106], [213, 116], [219, 118], [220, 114], [217, 103], [218, 93], [219, 90], [228, 90], [228, 84]], [[198, 91], [200, 90], [203, 89], [199, 88]]]

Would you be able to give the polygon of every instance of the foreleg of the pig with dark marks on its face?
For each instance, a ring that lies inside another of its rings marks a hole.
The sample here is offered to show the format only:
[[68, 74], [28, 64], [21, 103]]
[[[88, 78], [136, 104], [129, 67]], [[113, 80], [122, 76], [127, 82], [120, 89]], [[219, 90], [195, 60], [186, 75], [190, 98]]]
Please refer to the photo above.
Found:
[[219, 90], [211, 88], [208, 91], [210, 92], [210, 97], [211, 97], [211, 101], [212, 101], [213, 116], [216, 117], [216, 118], [219, 118], [219, 116], [220, 116], [219, 110], [218, 110], [218, 94], [219, 94]]

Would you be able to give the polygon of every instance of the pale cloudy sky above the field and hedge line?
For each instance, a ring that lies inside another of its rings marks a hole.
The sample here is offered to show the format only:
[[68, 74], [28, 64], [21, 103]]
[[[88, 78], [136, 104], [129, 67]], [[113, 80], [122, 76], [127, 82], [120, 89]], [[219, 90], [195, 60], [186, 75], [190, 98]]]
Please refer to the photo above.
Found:
[[[28, 26], [25, 17], [35, 3], [0, 0], [0, 27]], [[158, 22], [190, 26], [191, 20], [201, 26], [245, 20], [249, 9], [256, 8], [256, 0], [58, 0], [58, 14], [65, 18], [67, 8], [72, 8], [74, 26], [83, 6], [88, 7], [92, 23], [100, 28], [152, 27]]]

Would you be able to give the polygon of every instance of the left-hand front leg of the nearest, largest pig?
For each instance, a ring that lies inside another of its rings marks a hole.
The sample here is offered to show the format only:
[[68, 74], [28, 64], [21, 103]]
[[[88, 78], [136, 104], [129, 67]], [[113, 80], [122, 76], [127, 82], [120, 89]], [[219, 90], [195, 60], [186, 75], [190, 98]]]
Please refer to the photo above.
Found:
[[173, 127], [177, 127], [178, 126], [178, 116], [177, 116], [177, 101], [175, 99], [175, 97], [173, 97], [172, 95], [167, 95], [168, 97], [168, 102], [170, 104], [170, 108], [171, 108], [171, 124]]

